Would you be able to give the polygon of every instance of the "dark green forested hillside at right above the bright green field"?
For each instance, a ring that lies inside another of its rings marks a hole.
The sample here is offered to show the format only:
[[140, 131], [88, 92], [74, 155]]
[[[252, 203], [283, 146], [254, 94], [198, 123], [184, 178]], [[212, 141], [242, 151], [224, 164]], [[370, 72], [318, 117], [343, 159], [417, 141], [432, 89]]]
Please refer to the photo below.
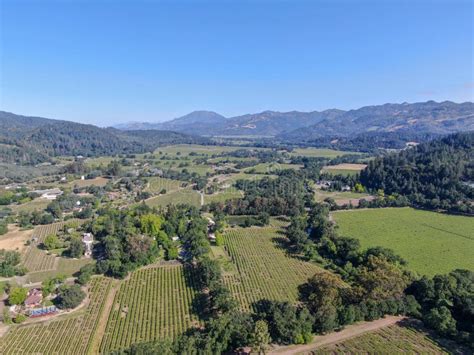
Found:
[[474, 133], [458, 133], [369, 162], [360, 181], [414, 206], [474, 214]]

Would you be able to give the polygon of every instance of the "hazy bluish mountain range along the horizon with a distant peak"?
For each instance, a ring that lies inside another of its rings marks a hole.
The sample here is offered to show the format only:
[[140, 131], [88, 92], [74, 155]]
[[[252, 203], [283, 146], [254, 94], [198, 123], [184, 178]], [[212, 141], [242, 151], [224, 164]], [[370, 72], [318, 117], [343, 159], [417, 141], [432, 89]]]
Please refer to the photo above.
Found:
[[296, 142], [364, 133], [439, 135], [474, 130], [474, 104], [428, 101], [366, 106], [350, 111], [264, 111], [230, 118], [215, 112], [195, 111], [164, 123], [134, 123], [116, 128], [158, 128], [201, 136], [266, 136]]

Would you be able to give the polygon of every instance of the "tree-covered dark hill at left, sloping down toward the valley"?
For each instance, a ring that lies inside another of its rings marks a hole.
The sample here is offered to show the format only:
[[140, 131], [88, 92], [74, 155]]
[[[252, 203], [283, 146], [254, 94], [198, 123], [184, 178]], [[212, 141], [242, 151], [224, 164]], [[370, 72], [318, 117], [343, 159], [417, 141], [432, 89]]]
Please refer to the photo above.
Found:
[[119, 131], [0, 111], [0, 162], [36, 164], [56, 155], [115, 155], [153, 151], [205, 138], [169, 131]]

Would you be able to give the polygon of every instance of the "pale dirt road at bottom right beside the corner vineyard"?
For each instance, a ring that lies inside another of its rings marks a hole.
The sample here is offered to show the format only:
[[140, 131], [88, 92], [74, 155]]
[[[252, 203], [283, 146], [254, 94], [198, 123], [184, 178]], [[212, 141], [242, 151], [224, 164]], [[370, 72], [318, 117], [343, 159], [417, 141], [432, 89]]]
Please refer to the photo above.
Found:
[[388, 327], [389, 325], [393, 325], [403, 319], [405, 319], [405, 317], [386, 316], [385, 318], [377, 319], [373, 322], [363, 322], [350, 325], [340, 332], [318, 335], [314, 337], [314, 340], [310, 344], [281, 346], [270, 350], [269, 354], [300, 354], [309, 352], [325, 345], [339, 343], [367, 332]]

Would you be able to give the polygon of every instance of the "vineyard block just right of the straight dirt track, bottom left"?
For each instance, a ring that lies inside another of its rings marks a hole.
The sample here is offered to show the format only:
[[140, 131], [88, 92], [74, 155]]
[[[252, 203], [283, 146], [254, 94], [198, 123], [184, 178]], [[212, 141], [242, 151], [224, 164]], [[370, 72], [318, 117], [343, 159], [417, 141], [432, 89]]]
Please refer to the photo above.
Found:
[[198, 324], [191, 313], [195, 292], [193, 276], [179, 264], [134, 272], [115, 296], [100, 352], [174, 338]]

